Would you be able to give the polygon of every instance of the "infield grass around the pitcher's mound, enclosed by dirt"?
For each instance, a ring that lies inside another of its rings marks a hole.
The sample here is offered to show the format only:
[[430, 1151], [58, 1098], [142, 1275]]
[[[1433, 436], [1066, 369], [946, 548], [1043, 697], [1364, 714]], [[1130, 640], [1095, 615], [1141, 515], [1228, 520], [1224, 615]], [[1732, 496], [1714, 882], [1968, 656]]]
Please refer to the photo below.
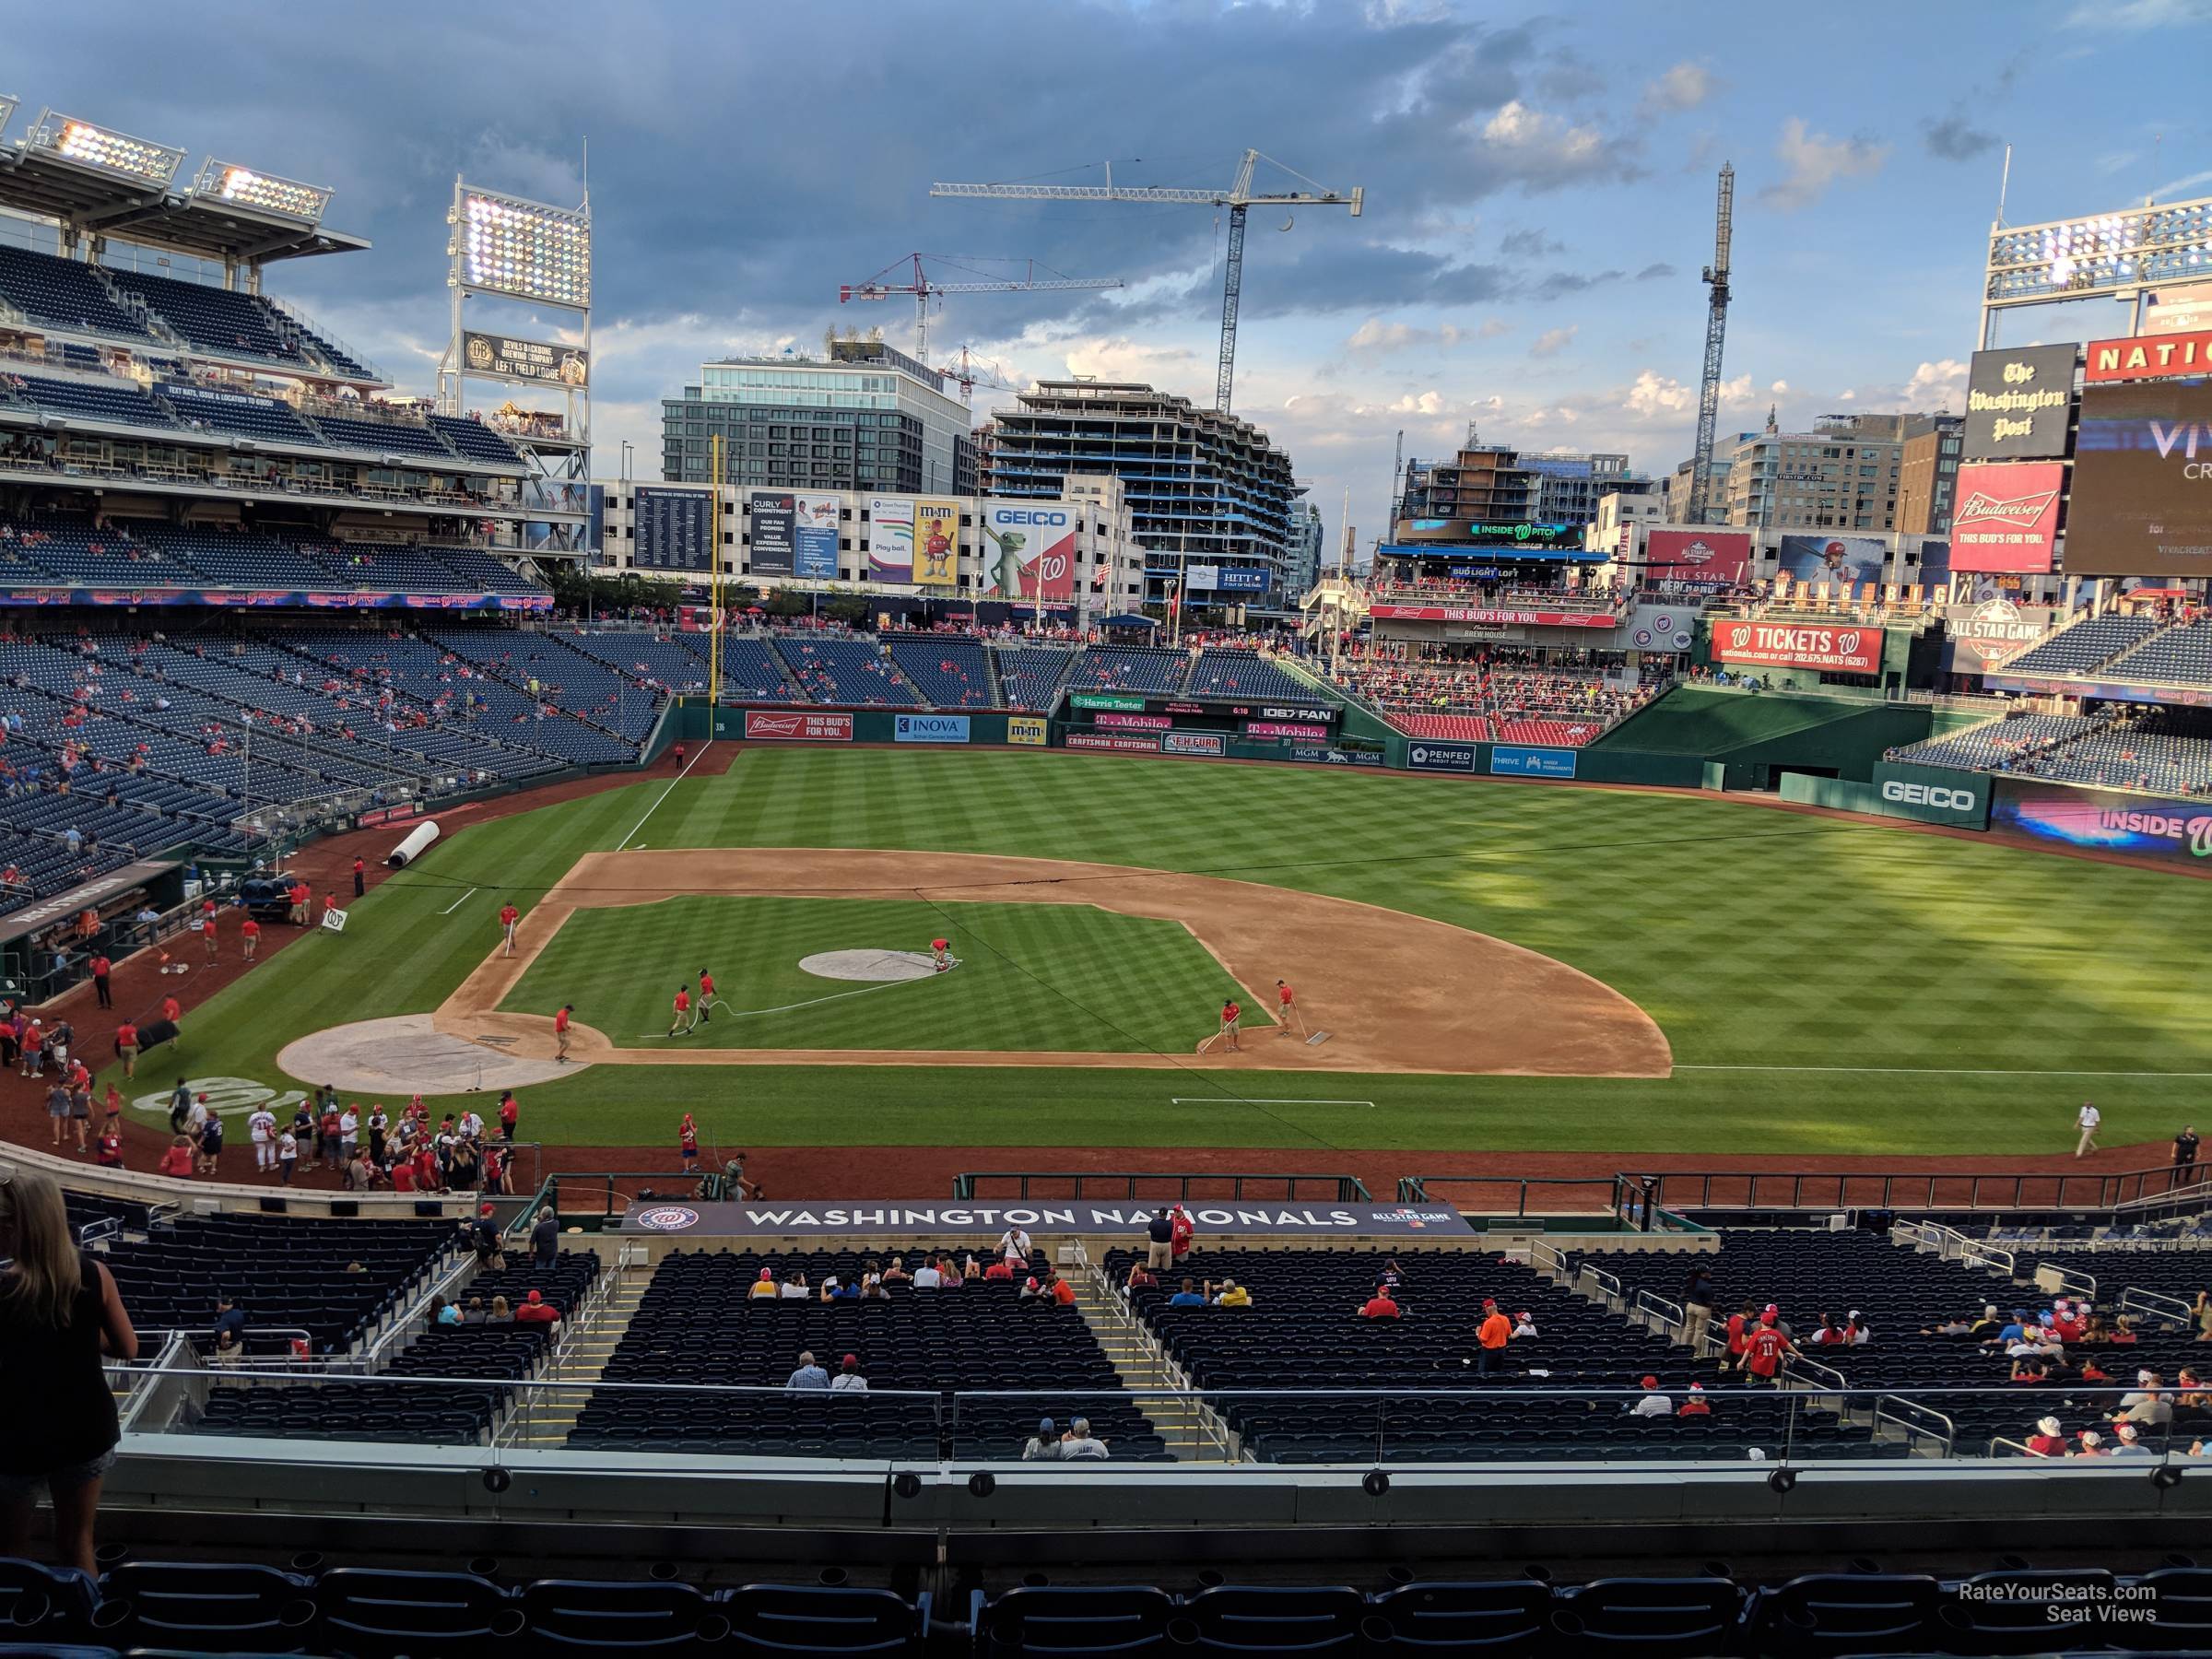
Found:
[[[927, 951], [960, 967], [905, 984], [821, 980], [816, 951]], [[1190, 1053], [1230, 995], [1256, 1004], [1181, 922], [1093, 905], [880, 898], [670, 898], [580, 909], [502, 1002], [577, 1020], [617, 1048], [666, 1042], [677, 984], [714, 975], [717, 1006], [686, 1048], [984, 1048]], [[1254, 1006], [1248, 1024], [1272, 1024]]]

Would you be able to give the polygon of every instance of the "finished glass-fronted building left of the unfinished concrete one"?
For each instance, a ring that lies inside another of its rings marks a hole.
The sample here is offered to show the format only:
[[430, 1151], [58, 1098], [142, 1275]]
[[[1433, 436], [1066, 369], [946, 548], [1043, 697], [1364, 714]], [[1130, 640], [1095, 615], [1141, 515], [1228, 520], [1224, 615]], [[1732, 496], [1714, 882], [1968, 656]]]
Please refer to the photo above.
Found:
[[975, 493], [967, 405], [883, 341], [703, 363], [699, 385], [661, 400], [661, 476], [712, 482], [714, 438], [726, 484]]

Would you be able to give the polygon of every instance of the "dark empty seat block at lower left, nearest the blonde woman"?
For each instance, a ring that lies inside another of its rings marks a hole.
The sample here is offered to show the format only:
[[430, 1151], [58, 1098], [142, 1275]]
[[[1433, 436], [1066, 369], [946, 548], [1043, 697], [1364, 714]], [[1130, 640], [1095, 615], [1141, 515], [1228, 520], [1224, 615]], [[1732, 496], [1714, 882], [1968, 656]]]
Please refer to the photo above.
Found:
[[206, 1336], [228, 1294], [246, 1314], [248, 1349], [285, 1347], [254, 1332], [303, 1329], [316, 1354], [338, 1354], [420, 1290], [456, 1239], [449, 1221], [210, 1214], [122, 1239], [102, 1261], [142, 1343], [164, 1329]]

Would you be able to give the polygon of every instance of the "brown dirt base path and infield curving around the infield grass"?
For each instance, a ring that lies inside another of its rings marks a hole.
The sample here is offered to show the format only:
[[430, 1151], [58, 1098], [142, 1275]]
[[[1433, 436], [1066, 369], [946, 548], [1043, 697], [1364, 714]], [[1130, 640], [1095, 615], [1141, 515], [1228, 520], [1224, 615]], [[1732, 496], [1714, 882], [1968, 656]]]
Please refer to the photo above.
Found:
[[[1241, 1053], [993, 1053], [971, 1048], [622, 1048], [575, 1026], [577, 1062], [615, 1066], [1150, 1066], [1206, 1071], [1498, 1073], [1666, 1077], [1666, 1035], [1635, 1002], [1520, 945], [1347, 898], [1124, 865], [971, 854], [812, 847], [595, 852], [522, 925], [515, 956], [493, 953], [438, 1009], [440, 1033], [551, 1060], [551, 1011], [500, 1013], [535, 956], [577, 909], [690, 894], [907, 898], [931, 902], [1097, 905], [1175, 920], [1214, 953], [1254, 1006], [1290, 980], [1307, 1046], [1270, 1029]], [[1192, 1020], [1192, 1042], [1203, 1035]], [[307, 1040], [314, 1042], [314, 1040]], [[294, 1044], [296, 1046], [296, 1044]], [[310, 1068], [316, 1060], [305, 1060]], [[447, 1091], [465, 1086], [449, 1082]]]

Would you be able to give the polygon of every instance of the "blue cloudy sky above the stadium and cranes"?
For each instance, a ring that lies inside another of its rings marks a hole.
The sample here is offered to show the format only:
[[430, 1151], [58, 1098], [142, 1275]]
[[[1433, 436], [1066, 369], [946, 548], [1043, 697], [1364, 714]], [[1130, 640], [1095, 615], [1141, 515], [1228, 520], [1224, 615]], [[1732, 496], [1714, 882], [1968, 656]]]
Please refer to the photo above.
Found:
[[[929, 184], [1099, 184], [1110, 159], [1117, 181], [1214, 186], [1252, 146], [1367, 188], [1363, 219], [1254, 210], [1237, 376], [1239, 414], [1290, 449], [1332, 535], [1349, 484], [1365, 544], [1398, 429], [1416, 456], [1469, 420], [1648, 471], [1688, 453], [1723, 159], [1723, 431], [1770, 403], [1798, 427], [1960, 409], [2004, 144], [2013, 223], [2212, 192], [2208, 60], [2212, 0], [321, 0], [292, 20], [197, 0], [190, 27], [108, 0], [18, 18], [0, 91], [24, 102], [9, 137], [44, 104], [186, 146], [192, 166], [215, 153], [334, 186], [330, 221], [376, 248], [276, 268], [270, 292], [411, 392], [447, 336], [453, 175], [575, 201], [588, 139], [599, 471], [628, 438], [648, 478], [657, 400], [703, 358], [818, 349], [854, 323], [907, 345], [911, 303], [841, 307], [836, 290], [911, 250], [1126, 283], [953, 296], [931, 321], [940, 363], [969, 345], [1013, 383], [1141, 378], [1210, 400], [1214, 210], [945, 201]], [[2015, 332], [2115, 321], [2044, 312]], [[489, 307], [482, 323], [529, 332]], [[978, 411], [1004, 396], [978, 389]]]

